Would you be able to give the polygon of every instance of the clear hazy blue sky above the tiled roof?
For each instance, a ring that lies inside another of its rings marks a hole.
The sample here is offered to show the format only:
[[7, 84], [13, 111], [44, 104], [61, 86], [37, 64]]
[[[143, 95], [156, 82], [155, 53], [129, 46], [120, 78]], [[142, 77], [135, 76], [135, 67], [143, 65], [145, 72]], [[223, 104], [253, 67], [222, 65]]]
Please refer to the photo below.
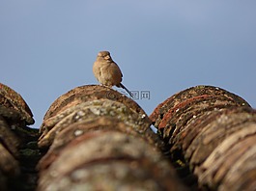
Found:
[[195, 85], [256, 107], [254, 0], [0, 0], [0, 82], [26, 100], [33, 127], [58, 96], [98, 84], [100, 50], [111, 52], [130, 91], [150, 91], [136, 100], [149, 115]]

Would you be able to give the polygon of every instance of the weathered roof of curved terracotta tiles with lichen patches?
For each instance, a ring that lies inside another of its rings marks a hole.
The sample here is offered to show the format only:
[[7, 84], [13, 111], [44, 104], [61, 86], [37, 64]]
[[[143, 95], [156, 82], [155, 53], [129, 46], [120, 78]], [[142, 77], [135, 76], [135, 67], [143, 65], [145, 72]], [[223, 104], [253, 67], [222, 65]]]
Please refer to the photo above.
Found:
[[255, 188], [256, 112], [217, 87], [172, 95], [148, 117], [126, 95], [86, 85], [58, 97], [39, 130], [31, 123], [0, 84], [1, 190]]

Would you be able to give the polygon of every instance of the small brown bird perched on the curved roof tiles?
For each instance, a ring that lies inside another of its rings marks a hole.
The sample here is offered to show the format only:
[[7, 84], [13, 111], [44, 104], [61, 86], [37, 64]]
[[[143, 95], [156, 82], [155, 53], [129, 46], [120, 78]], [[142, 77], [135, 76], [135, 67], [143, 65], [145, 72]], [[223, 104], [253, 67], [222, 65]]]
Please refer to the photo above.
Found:
[[117, 86], [128, 92], [128, 95], [133, 97], [132, 93], [122, 84], [122, 71], [118, 65], [112, 60], [109, 51], [100, 51], [97, 55], [96, 62], [93, 66], [93, 72], [96, 79], [101, 85], [112, 88]]

